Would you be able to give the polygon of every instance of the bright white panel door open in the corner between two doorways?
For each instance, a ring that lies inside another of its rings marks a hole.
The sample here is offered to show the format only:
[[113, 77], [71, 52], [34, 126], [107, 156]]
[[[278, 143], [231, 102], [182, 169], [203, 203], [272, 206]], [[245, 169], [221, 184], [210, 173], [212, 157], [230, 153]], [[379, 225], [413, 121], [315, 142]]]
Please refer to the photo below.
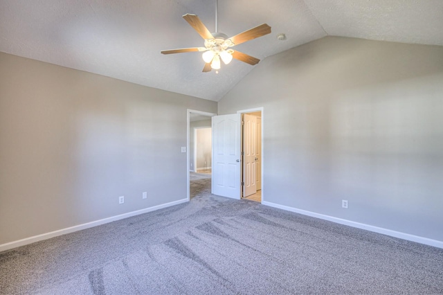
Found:
[[212, 193], [240, 199], [241, 114], [213, 116]]

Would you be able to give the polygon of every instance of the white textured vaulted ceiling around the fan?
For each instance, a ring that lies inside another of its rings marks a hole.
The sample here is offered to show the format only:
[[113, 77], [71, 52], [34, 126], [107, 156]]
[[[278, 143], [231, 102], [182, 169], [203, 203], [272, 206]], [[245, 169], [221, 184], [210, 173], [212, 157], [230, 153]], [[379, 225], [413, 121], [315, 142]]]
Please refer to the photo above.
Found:
[[[186, 13], [215, 30], [215, 0], [0, 0], [0, 51], [217, 101], [253, 66], [202, 73], [201, 53], [161, 55], [204, 45]], [[262, 60], [326, 35], [443, 46], [442, 0], [219, 0], [221, 33], [263, 23], [271, 34], [235, 49]]]

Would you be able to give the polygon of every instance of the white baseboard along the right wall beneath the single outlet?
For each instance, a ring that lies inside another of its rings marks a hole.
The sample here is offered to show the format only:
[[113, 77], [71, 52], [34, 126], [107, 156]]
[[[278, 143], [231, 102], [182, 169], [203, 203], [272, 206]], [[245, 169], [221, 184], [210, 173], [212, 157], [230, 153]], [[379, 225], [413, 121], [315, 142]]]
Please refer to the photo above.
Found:
[[357, 229], [365, 229], [366, 231], [373, 231], [374, 233], [381, 233], [383, 235], [390, 235], [391, 237], [395, 237], [395, 238], [400, 238], [403, 240], [409, 240], [412, 242], [417, 242], [417, 243], [421, 243], [421, 244], [426, 244], [429, 246], [433, 246], [433, 247], [437, 247], [437, 248], [442, 248], [443, 249], [443, 241], [439, 241], [439, 240], [432, 240], [429, 238], [424, 238], [424, 237], [420, 237], [418, 235], [410, 235], [409, 233], [401, 233], [400, 231], [392, 231], [390, 229], [383, 229], [381, 227], [378, 226], [372, 226], [372, 225], [368, 225], [368, 224], [363, 224], [363, 223], [359, 223], [359, 222], [353, 222], [350, 220], [343, 220], [341, 218], [338, 217], [332, 217], [329, 215], [323, 215], [320, 213], [314, 213], [311, 211], [305, 211], [302, 209], [298, 209], [298, 208], [293, 208], [293, 207], [289, 207], [289, 206], [284, 206], [284, 205], [280, 205], [280, 204], [275, 204], [275, 203], [271, 203], [271, 202], [262, 202], [263, 205], [266, 206], [270, 206], [270, 207], [274, 207], [274, 208], [279, 208], [285, 211], [291, 211], [294, 213], [300, 213], [302, 215], [307, 215], [307, 216], [311, 216], [311, 217], [316, 217], [316, 218], [320, 218], [322, 220], [328, 220], [330, 222], [335, 222], [338, 224], [344, 224], [347, 226], [352, 226], [352, 227], [356, 227]]

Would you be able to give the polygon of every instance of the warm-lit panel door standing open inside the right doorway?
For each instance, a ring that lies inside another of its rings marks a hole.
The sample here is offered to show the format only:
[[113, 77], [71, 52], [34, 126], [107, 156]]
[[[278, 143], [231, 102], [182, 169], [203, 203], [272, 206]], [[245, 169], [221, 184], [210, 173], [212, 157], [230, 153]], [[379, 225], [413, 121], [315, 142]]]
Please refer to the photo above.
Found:
[[243, 115], [243, 197], [257, 193], [257, 117]]

